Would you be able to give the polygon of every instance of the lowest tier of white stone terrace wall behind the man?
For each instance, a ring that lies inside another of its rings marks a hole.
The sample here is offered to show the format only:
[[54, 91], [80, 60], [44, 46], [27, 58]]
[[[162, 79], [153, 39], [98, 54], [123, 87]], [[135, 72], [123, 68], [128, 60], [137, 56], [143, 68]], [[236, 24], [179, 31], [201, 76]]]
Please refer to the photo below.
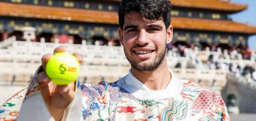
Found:
[[[113, 65], [87, 65], [81, 64], [80, 78], [85, 77], [116, 77], [120, 78], [125, 76], [130, 69], [129, 64], [126, 65], [114, 65], [118, 61], [113, 62]], [[0, 78], [1, 80], [12, 80], [12, 76], [18, 76], [16, 80], [18, 81], [28, 81], [29, 78], [34, 74], [35, 70], [40, 66], [40, 63], [17, 63], [17, 62], [1, 62], [0, 63]], [[226, 74], [221, 72], [221, 70], [198, 70], [198, 69], [187, 69], [187, 68], [174, 68], [169, 67], [174, 71], [175, 75], [188, 80], [220, 80], [225, 81]], [[7, 75], [4, 77], [3, 75]], [[19, 76], [27, 75], [27, 79]], [[211, 75], [209, 77], [209, 75]], [[100, 81], [100, 80], [98, 80]], [[115, 81], [115, 80], [108, 80]], [[95, 80], [95, 82], [97, 81]], [[211, 86], [211, 84], [205, 84]], [[223, 85], [224, 86], [224, 85]]]

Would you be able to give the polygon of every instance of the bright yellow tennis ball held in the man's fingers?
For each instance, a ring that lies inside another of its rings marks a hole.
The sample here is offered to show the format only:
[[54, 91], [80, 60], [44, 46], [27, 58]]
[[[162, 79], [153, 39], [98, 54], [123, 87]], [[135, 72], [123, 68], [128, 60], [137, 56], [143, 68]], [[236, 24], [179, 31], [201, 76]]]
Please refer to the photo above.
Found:
[[55, 53], [47, 62], [46, 75], [57, 85], [68, 85], [76, 81], [80, 64], [75, 56], [67, 53]]

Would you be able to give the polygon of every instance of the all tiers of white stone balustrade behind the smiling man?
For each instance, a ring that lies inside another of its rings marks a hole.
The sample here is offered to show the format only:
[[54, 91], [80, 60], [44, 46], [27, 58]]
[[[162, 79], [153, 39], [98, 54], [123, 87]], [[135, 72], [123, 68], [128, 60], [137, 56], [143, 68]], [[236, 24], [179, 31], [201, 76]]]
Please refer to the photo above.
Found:
[[[55, 40], [55, 43], [45, 43], [44, 38], [41, 38], [41, 42], [13, 41], [13, 38], [15, 37], [8, 39], [9, 41], [12, 40], [5, 46], [8, 49], [0, 49], [0, 67], [2, 68], [0, 74], [17, 75], [27, 72], [26, 74], [31, 75], [40, 65], [41, 57], [47, 53], [52, 54], [55, 47], [59, 45], [66, 47], [68, 53], [78, 52], [84, 55], [84, 63], [81, 65], [81, 72], [84, 72], [81, 74], [82, 77], [99, 76], [98, 74], [101, 74], [102, 77], [108, 77], [113, 76], [113, 73], [116, 74], [115, 77], [122, 77], [122, 75], [127, 74], [130, 68], [122, 46], [99, 46], [98, 41], [95, 42], [96, 45], [86, 45], [85, 40], [82, 41], [82, 44], [60, 44], [58, 40]], [[112, 44], [108, 43], [108, 45]], [[198, 51], [198, 48], [195, 47], [193, 51], [190, 48], [186, 48], [186, 57], [177, 57], [175, 51], [169, 50], [167, 56], [168, 67], [176, 71], [178, 77], [195, 81], [204, 80], [204, 82], [208, 80], [211, 83], [213, 80], [226, 81], [226, 74], [222, 70], [207, 70], [201, 66], [202, 60], [208, 60], [211, 54], [215, 61], [221, 63], [254, 63], [253, 60], [242, 60], [241, 58], [230, 60], [226, 50], [224, 51], [226, 59], [219, 59], [219, 55], [222, 54], [220, 49], [217, 52], [209, 50], [209, 48], [206, 48], [206, 51]], [[195, 58], [199, 60], [197, 69], [186, 69], [188, 63], [195, 64]], [[174, 68], [178, 62], [181, 63], [181, 68]]]

